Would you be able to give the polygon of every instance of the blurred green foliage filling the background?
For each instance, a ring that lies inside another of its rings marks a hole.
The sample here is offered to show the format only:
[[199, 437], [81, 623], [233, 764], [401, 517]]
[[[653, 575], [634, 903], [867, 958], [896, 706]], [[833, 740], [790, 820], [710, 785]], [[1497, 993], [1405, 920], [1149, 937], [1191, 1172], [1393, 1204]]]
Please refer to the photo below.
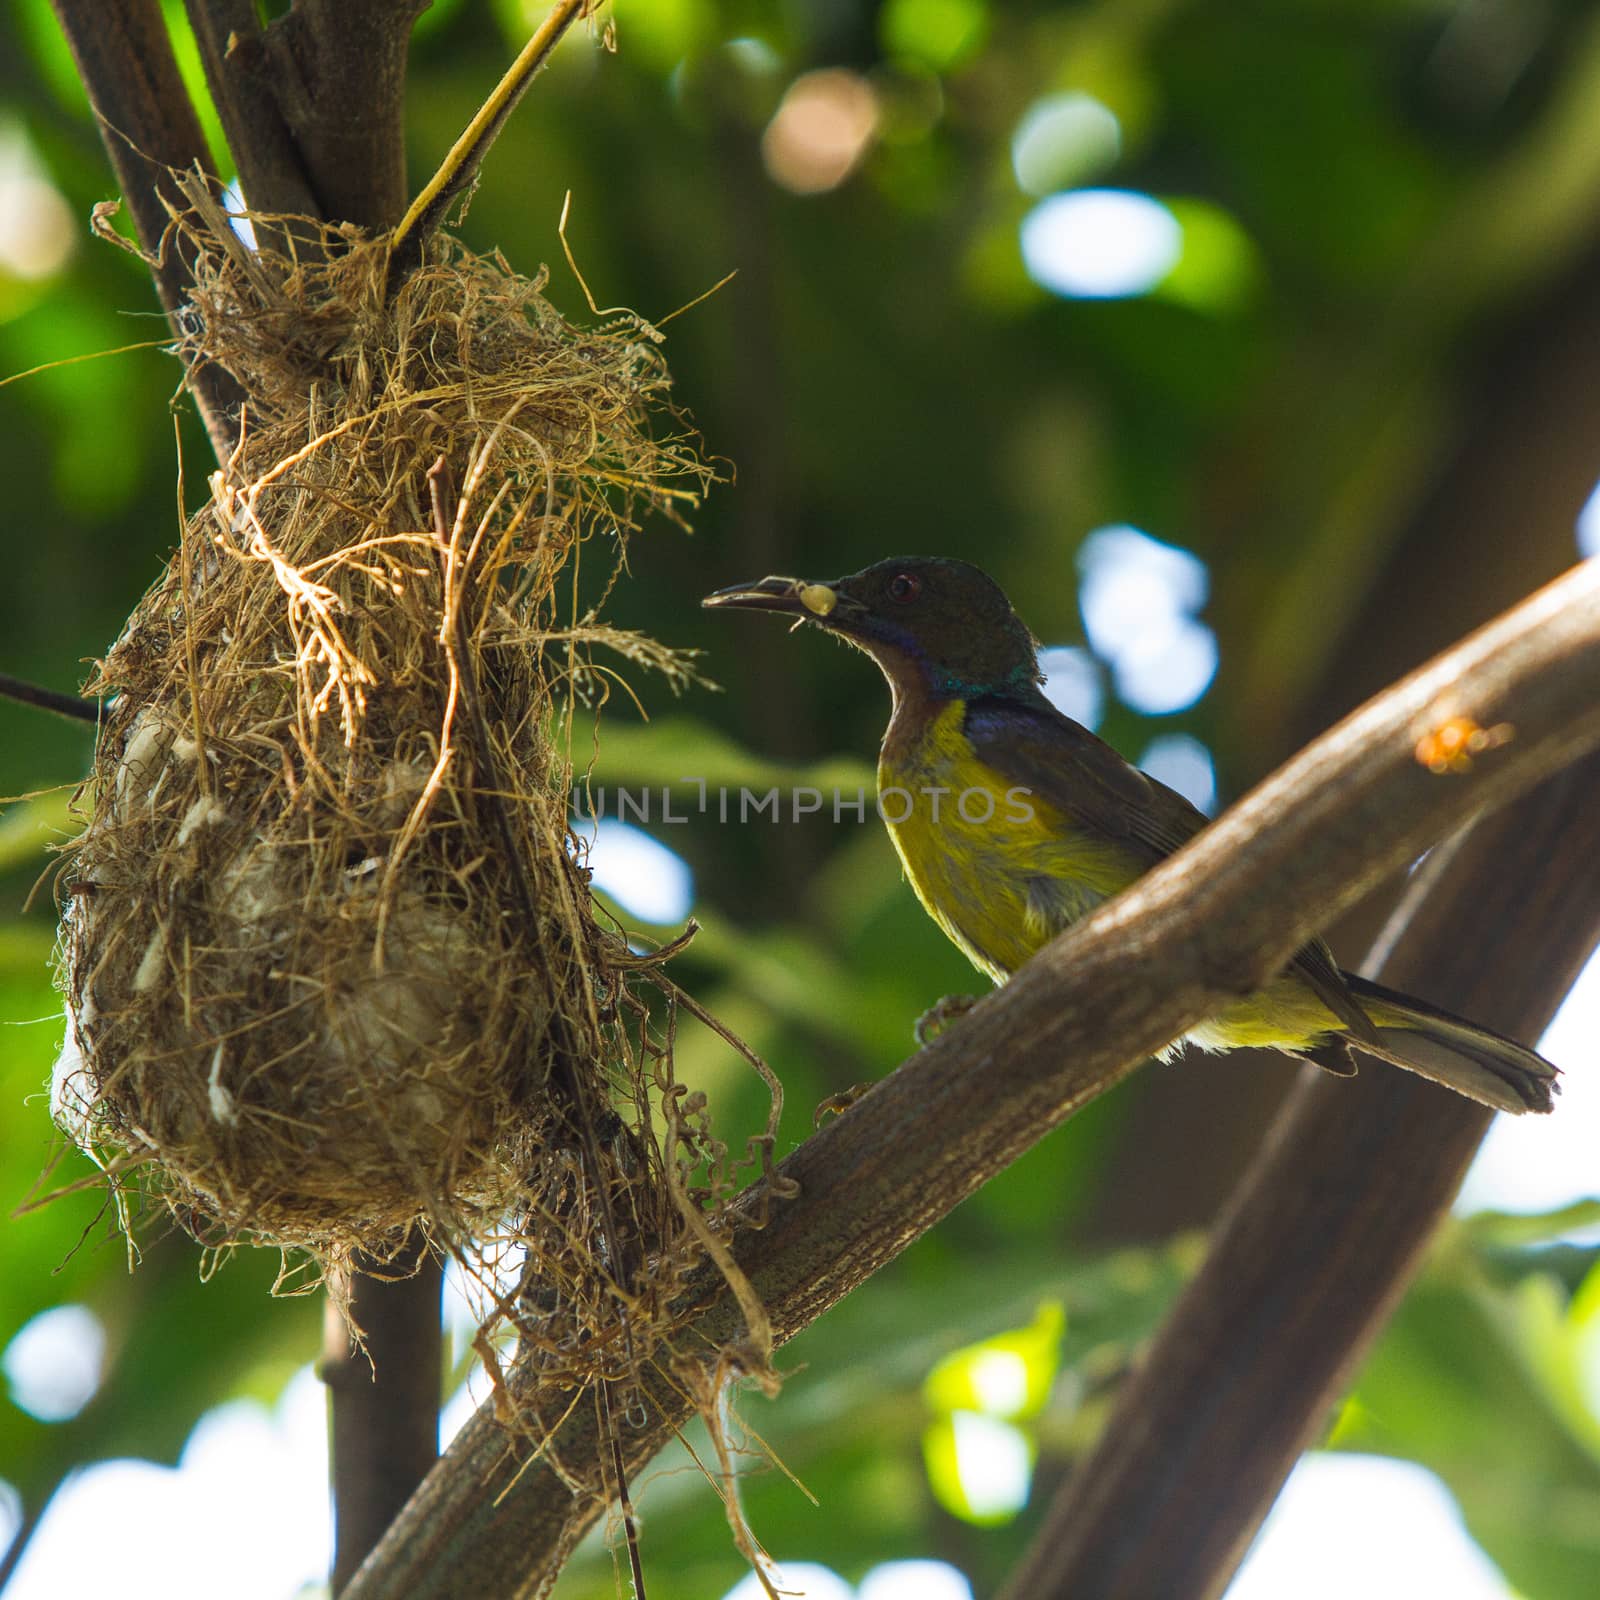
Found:
[[[166, 10], [181, 18], [181, 5]], [[6, 149], [26, 152], [16, 160], [75, 222], [59, 269], [0, 267], [10, 374], [160, 339], [162, 323], [138, 264], [88, 238], [90, 206], [112, 182], [48, 6], [6, 0], [6, 13], [16, 48], [0, 51], [0, 136], [14, 133]], [[435, 5], [408, 91], [414, 182], [541, 13], [533, 0]], [[562, 45], [462, 222], [528, 272], [552, 262], [550, 296], [574, 317], [582, 293], [557, 238], [568, 192], [568, 237], [602, 306], [661, 318], [738, 270], [667, 330], [678, 398], [728, 482], [691, 539], [662, 526], [635, 542], [614, 598], [622, 626], [704, 650], [725, 693], [672, 704], [637, 685], [653, 720], [606, 712], [597, 782], [794, 778], [854, 792], [870, 781], [886, 715], [870, 669], [765, 619], [702, 616], [712, 587], [830, 576], [902, 550], [963, 555], [995, 573], [1046, 643], [1072, 643], [1075, 550], [1090, 530], [1131, 522], [1210, 563], [1222, 670], [1176, 717], [1114, 702], [1104, 731], [1128, 752], [1152, 722], [1190, 731], [1218, 752], [1224, 797], [1237, 794], [1288, 752], [1307, 707], [1347, 704], [1328, 675], [1352, 627], [1373, 638], [1411, 627], [1386, 616], [1376, 579], [1427, 536], [1414, 518], [1482, 403], [1474, 386], [1493, 378], [1485, 352], [1562, 315], [1563, 275], [1600, 222], [1600, 16], [1576, 0], [618, 0], [616, 46], [582, 29]], [[850, 176], [798, 195], [768, 176], [762, 138], [818, 67], [858, 75], [875, 125]], [[1162, 197], [1182, 224], [1184, 253], [1152, 294], [1059, 299], [1022, 267], [1018, 227], [1035, 200], [1013, 173], [1011, 134], [1061, 93], [1093, 98], [1118, 125], [1074, 181]], [[176, 538], [179, 446], [189, 504], [210, 467], [181, 405], [174, 437], [176, 384], [166, 355], [139, 350], [0, 387], [5, 670], [72, 686], [157, 578]], [[1507, 432], [1507, 458], [1526, 461], [1525, 443]], [[1566, 528], [1542, 544], [1530, 526], [1504, 531], [1530, 552], [1570, 541], [1600, 470], [1587, 434], [1550, 448], [1563, 454], [1541, 470], [1565, 499], [1552, 510], [1546, 496], [1538, 515]], [[1475, 558], [1440, 552], [1451, 573]], [[1541, 558], [1528, 555], [1534, 576]], [[1478, 603], [1520, 587], [1522, 568], [1504, 560]], [[1446, 635], [1477, 619], [1446, 618]], [[88, 736], [6, 706], [0, 726], [0, 790], [50, 790], [0, 822], [10, 1211], [53, 1160], [54, 907], [48, 888], [30, 904], [29, 893], [70, 826], [62, 797]], [[909, 1053], [928, 1003], [976, 986], [870, 814], [691, 816], [656, 832], [693, 867], [704, 923], [677, 976], [778, 1066], [786, 1147], [824, 1094]], [[758, 1086], [720, 1042], [685, 1024], [680, 1059], [731, 1134], [757, 1125]], [[846, 1576], [936, 1554], [979, 1594], [998, 1582], [1194, 1264], [1190, 1240], [1112, 1248], [1107, 1226], [1136, 1166], [1126, 1133], [1160, 1117], [1176, 1072], [1211, 1074], [1219, 1099], [1248, 1093], [1214, 1062], [1144, 1074], [795, 1341], [776, 1405], [742, 1402], [821, 1501], [819, 1512], [781, 1474], [752, 1470], [747, 1510], [768, 1547]], [[48, 1182], [86, 1174], [69, 1154]], [[1187, 1163], [1141, 1181], [1179, 1200], [1198, 1182]], [[130, 1277], [93, 1190], [8, 1221], [3, 1238], [0, 1346], [64, 1301], [93, 1307], [112, 1334], [107, 1384], [72, 1422], [0, 1402], [0, 1477], [29, 1502], [74, 1462], [174, 1459], [208, 1405], [270, 1394], [315, 1352], [315, 1307], [266, 1299], [275, 1261], [240, 1259], [202, 1283], [195, 1248], [163, 1238]], [[1587, 1597], [1600, 1570], [1600, 1421], [1574, 1379], [1600, 1322], [1594, 1254], [1456, 1229], [1338, 1427], [1341, 1445], [1440, 1472], [1530, 1600]], [[1030, 1326], [1045, 1301], [1064, 1309], [1066, 1331], [1059, 1376], [1030, 1413], [1034, 1499], [978, 1530], [930, 1488], [923, 1386], [952, 1352]], [[662, 1462], [642, 1491], [651, 1595], [704, 1600], [739, 1563], [715, 1496], [678, 1466]], [[598, 1547], [560, 1589], [611, 1592]]]

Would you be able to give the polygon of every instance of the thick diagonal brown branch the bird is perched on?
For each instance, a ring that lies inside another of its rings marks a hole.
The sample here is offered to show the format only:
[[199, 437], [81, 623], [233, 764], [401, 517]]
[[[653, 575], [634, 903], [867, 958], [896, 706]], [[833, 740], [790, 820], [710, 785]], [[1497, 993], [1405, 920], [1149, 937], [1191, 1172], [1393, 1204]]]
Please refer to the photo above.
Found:
[[[1280, 970], [1373, 882], [1600, 746], [1595, 682], [1600, 563], [1589, 563], [1370, 702], [1042, 950], [782, 1163], [797, 1194], [773, 1198], [766, 1229], [734, 1240], [779, 1341], [1152, 1050]], [[1451, 715], [1506, 723], [1514, 736], [1470, 773], [1435, 776], [1416, 744]], [[685, 1347], [738, 1341], [731, 1293], [709, 1269], [701, 1283], [704, 1309]], [[554, 1426], [565, 1402], [539, 1397], [536, 1374], [514, 1381]], [[624, 1440], [630, 1470], [690, 1413], [666, 1376], [643, 1402], [648, 1418]], [[573, 1408], [539, 1458], [530, 1454], [491, 1414], [474, 1418], [357, 1574], [350, 1600], [542, 1592], [600, 1509], [592, 1408]]]

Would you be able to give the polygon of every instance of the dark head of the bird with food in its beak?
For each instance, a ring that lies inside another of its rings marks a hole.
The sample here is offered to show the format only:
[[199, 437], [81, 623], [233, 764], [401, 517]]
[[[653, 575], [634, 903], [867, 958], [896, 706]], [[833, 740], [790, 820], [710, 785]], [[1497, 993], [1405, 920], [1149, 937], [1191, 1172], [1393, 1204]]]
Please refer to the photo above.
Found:
[[941, 699], [1037, 691], [1038, 646], [1000, 586], [970, 562], [906, 555], [850, 578], [763, 578], [706, 606], [778, 611], [864, 650], [896, 688]]

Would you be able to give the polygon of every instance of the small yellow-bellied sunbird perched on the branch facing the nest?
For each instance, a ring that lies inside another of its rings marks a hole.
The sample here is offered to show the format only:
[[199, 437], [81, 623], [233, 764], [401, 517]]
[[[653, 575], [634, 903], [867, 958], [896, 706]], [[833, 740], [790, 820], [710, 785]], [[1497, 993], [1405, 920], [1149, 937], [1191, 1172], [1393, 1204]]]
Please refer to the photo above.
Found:
[[[1056, 710], [1034, 635], [966, 562], [902, 557], [832, 582], [763, 578], [704, 605], [811, 622], [878, 664], [894, 704], [880, 813], [928, 915], [997, 984], [1206, 826]], [[1354, 1045], [1512, 1112], [1549, 1110], [1557, 1078], [1509, 1038], [1341, 971], [1320, 939], [1184, 1037], [1202, 1050], [1315, 1053], [1344, 1072]]]

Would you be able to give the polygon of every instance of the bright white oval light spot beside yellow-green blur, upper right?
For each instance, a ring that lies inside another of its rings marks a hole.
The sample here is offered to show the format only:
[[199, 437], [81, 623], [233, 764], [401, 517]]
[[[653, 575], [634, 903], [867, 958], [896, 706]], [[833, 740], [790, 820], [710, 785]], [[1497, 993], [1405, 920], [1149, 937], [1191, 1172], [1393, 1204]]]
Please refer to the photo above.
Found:
[[1184, 248], [1178, 219], [1126, 189], [1075, 189], [1040, 200], [1022, 218], [1029, 277], [1069, 299], [1149, 294]]

